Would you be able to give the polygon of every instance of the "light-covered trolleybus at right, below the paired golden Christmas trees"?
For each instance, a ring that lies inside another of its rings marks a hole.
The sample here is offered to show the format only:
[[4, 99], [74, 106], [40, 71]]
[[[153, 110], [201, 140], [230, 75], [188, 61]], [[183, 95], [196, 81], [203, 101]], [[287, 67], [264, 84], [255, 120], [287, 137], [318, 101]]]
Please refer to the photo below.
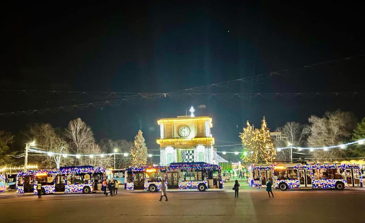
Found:
[[272, 187], [280, 190], [292, 188], [362, 187], [360, 167], [336, 163], [271, 164], [249, 166], [249, 184], [255, 188]]

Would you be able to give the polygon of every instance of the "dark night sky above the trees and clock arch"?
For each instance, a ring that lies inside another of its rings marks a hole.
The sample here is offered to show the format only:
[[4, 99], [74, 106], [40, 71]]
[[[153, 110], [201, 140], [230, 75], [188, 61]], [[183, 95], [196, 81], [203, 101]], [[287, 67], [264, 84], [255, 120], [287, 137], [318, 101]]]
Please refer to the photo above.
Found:
[[[170, 92], [365, 53], [362, 8], [333, 1], [17, 3], [2, 6], [1, 21], [1, 89]], [[360, 57], [210, 92], [363, 91], [364, 71]], [[1, 92], [0, 113], [97, 101], [5, 93]], [[198, 109], [199, 105], [206, 107]], [[271, 129], [287, 121], [305, 123], [311, 114], [321, 116], [327, 110], [365, 116], [360, 97], [162, 98], [103, 109], [0, 117], [0, 129], [18, 132], [32, 122], [66, 127], [69, 120], [81, 117], [97, 140], [132, 140], [141, 128], [152, 149], [158, 148], [157, 119], [183, 115], [190, 106], [195, 106], [197, 116], [213, 118], [216, 145], [239, 142], [245, 121], [258, 126], [264, 115]]]

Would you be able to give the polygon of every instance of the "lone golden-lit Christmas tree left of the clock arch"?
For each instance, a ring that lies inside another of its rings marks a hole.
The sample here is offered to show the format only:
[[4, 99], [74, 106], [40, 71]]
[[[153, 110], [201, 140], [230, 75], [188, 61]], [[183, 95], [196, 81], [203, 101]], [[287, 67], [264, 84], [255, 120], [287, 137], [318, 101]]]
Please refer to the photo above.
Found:
[[145, 138], [142, 136], [142, 131], [138, 130], [138, 134], [134, 137], [134, 145], [131, 148], [132, 165], [147, 164], [147, 147]]

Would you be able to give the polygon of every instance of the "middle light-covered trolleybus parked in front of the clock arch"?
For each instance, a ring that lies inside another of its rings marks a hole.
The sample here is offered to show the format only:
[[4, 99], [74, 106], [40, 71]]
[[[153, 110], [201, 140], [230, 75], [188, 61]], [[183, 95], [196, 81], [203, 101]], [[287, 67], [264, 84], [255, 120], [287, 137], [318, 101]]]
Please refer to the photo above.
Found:
[[221, 168], [204, 162], [171, 163], [170, 166], [132, 166], [127, 169], [127, 190], [156, 192], [162, 179], [168, 189], [223, 188]]

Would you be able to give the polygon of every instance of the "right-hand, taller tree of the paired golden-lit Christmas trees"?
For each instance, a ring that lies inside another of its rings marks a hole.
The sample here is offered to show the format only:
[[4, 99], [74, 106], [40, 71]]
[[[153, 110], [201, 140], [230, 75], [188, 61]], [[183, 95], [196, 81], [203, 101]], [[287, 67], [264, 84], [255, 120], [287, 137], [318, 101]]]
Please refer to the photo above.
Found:
[[259, 144], [258, 147], [260, 148], [260, 158], [262, 161], [270, 163], [273, 159], [275, 159], [276, 150], [270, 136], [270, 131], [266, 123], [265, 116], [261, 122], [261, 129], [257, 129], [257, 143]]

